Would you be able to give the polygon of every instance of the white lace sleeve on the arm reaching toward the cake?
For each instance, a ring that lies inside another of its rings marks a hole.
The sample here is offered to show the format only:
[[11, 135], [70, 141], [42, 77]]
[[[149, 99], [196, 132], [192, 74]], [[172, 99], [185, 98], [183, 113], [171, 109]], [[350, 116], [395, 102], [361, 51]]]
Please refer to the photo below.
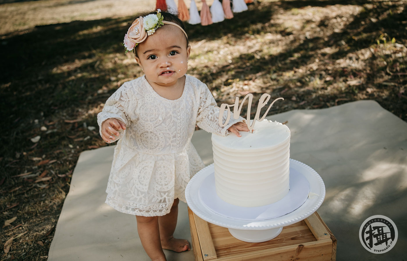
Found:
[[[226, 136], [230, 132], [228, 128], [235, 123], [244, 122], [246, 120], [239, 116], [238, 119], [233, 118], [233, 113], [230, 113], [230, 121], [225, 127], [221, 127], [219, 125], [219, 108], [215, 108], [217, 106], [216, 101], [210, 93], [208, 86], [203, 84], [201, 95], [199, 99], [199, 108], [198, 108], [198, 115], [197, 115], [197, 125], [201, 129], [206, 130], [207, 132], [212, 132], [219, 136]], [[225, 122], [228, 113], [225, 111], [223, 112], [223, 122]]]

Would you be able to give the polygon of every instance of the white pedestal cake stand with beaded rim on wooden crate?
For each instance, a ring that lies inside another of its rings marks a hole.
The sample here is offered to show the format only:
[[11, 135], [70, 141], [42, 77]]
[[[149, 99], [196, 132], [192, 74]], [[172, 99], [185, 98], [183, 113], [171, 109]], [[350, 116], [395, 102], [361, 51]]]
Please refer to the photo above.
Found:
[[213, 164], [199, 170], [185, 189], [186, 202], [200, 218], [229, 229], [245, 242], [265, 242], [282, 228], [313, 214], [325, 198], [322, 178], [310, 166], [290, 159], [290, 191], [280, 201], [262, 207], [238, 207], [215, 191]]

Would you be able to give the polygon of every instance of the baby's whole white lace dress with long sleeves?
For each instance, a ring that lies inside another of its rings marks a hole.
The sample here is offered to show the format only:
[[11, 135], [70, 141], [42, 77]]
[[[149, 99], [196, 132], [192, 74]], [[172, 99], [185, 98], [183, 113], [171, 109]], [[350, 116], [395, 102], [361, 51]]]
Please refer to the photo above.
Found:
[[144, 75], [120, 86], [97, 115], [99, 130], [109, 118], [126, 123], [115, 139], [105, 203], [127, 214], [162, 216], [174, 198], [185, 202], [186, 184], [205, 167], [191, 143], [195, 123], [226, 136], [231, 125], [246, 122], [231, 116], [228, 125], [220, 127], [216, 105], [206, 84], [190, 75], [176, 100], [158, 95]]

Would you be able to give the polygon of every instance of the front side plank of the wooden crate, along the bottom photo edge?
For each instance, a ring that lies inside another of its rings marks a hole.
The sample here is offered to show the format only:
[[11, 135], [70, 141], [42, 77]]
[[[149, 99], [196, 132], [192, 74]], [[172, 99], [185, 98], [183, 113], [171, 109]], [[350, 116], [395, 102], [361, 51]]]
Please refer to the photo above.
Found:
[[216, 261], [328, 261], [332, 255], [332, 240], [321, 239], [303, 244], [294, 244], [278, 248], [268, 248], [256, 252], [245, 252], [237, 255], [228, 255]]

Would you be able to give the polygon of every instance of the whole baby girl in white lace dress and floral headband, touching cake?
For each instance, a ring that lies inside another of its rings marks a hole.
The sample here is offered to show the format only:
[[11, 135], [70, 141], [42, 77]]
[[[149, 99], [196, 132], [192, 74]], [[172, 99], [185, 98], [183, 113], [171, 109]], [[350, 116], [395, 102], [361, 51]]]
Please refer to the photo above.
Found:
[[162, 249], [190, 250], [173, 233], [186, 184], [205, 167], [191, 143], [195, 124], [220, 136], [249, 129], [233, 116], [221, 127], [212, 93], [186, 74], [191, 46], [177, 16], [158, 9], [137, 18], [124, 44], [144, 75], [120, 86], [98, 114], [103, 140], [118, 140], [105, 203], [135, 215], [147, 255], [166, 260]]

